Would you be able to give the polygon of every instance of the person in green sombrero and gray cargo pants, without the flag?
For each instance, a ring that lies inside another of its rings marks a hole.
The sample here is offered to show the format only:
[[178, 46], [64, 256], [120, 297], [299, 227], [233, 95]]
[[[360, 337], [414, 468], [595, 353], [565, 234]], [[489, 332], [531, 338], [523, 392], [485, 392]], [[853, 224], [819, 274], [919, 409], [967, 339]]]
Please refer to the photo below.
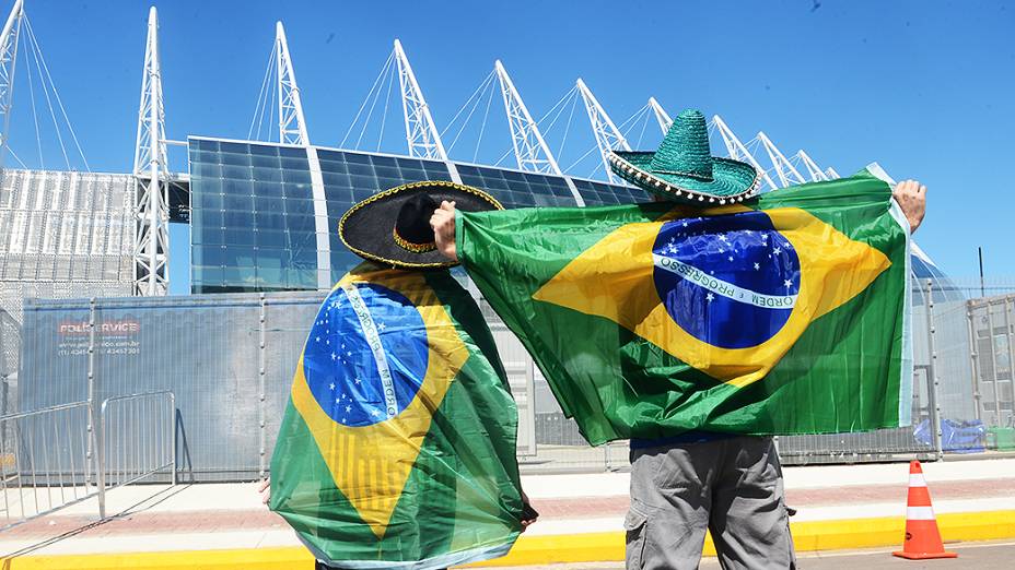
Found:
[[[654, 152], [612, 152], [608, 161], [614, 173], [657, 201], [715, 207], [749, 202], [758, 193], [759, 173], [751, 165], [712, 155], [704, 116], [697, 110], [681, 112]], [[895, 195], [914, 229], [923, 218], [925, 188], [903, 182]], [[439, 249], [456, 259], [454, 207], [442, 205], [432, 224]], [[707, 530], [724, 568], [795, 567], [771, 437], [699, 430], [632, 439], [631, 464], [628, 568], [697, 568]]]

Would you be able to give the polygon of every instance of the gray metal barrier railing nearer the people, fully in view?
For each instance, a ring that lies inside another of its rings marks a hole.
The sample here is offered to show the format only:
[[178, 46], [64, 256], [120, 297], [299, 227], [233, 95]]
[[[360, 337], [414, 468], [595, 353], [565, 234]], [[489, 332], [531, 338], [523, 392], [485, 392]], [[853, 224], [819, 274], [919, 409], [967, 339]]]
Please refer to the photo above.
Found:
[[98, 413], [98, 515], [106, 492], [170, 470], [176, 485], [176, 396], [172, 391], [107, 397]]

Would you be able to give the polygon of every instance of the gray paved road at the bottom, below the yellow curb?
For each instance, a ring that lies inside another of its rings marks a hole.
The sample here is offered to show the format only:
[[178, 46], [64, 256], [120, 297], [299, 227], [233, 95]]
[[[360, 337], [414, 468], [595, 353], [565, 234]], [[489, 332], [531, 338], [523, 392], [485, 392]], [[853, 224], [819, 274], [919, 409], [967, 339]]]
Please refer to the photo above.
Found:
[[[891, 549], [853, 550], [841, 553], [804, 553], [800, 556], [801, 570], [855, 569], [863, 570], [948, 570], [976, 568], [977, 570], [1011, 570], [1015, 565], [1015, 543], [966, 543], [948, 545], [958, 558], [940, 560], [903, 560], [891, 556]], [[585, 562], [556, 566], [529, 566], [525, 570], [621, 570], [620, 562]], [[720, 568], [715, 558], [701, 561], [702, 570]], [[510, 569], [504, 569], [510, 570]], [[522, 570], [518, 568], [517, 570]]]

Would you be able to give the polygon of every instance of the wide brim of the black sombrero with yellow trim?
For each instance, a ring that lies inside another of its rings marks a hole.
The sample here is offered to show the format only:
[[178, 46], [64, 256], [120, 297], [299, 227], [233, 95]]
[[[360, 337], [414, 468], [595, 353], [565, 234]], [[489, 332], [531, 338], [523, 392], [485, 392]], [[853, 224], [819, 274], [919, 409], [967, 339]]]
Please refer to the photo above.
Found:
[[425, 192], [438, 203], [455, 202], [455, 210], [485, 212], [503, 210], [492, 195], [470, 186], [440, 180], [412, 182], [376, 193], [353, 204], [338, 223], [338, 236], [353, 253], [385, 265], [408, 269], [442, 269], [457, 265], [440, 251], [409, 251], [395, 242], [398, 212], [406, 200]]

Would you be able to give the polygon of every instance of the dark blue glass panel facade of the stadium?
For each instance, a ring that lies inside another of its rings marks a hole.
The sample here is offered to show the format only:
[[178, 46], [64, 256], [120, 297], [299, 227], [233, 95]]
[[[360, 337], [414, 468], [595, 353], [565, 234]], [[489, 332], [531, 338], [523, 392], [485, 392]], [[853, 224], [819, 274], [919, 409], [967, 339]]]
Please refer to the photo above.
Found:
[[[360, 262], [338, 237], [338, 221], [370, 195], [408, 182], [453, 180], [447, 164], [317, 147], [327, 235], [318, 236], [314, 177], [304, 147], [191, 136], [191, 290], [240, 293], [318, 288], [318, 253], [330, 283]], [[505, 207], [574, 206], [564, 178], [455, 164], [465, 185]], [[586, 205], [645, 200], [638, 190], [572, 179]], [[324, 226], [322, 226], [324, 227]]]

